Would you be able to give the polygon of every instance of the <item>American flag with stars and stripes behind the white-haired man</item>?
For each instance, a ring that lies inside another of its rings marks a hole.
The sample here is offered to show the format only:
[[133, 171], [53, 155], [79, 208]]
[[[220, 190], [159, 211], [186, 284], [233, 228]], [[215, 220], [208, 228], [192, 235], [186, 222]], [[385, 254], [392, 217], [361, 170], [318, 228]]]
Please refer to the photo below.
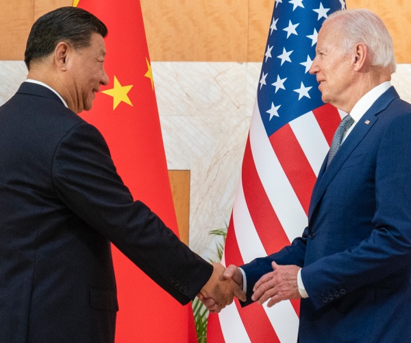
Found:
[[[229, 222], [223, 264], [276, 252], [308, 223], [314, 182], [345, 115], [321, 101], [314, 75], [318, 32], [344, 0], [276, 0], [256, 104]], [[208, 342], [297, 342], [299, 301], [210, 315]]]

